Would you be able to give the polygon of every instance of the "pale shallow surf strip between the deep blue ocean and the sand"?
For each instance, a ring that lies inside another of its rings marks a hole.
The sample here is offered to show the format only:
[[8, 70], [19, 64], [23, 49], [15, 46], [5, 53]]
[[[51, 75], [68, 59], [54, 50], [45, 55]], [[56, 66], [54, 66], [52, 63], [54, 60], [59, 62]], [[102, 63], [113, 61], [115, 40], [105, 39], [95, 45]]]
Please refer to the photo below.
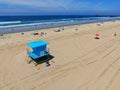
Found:
[[12, 25], [12, 26], [4, 26], [0, 27], [0, 34], [9, 34], [9, 33], [17, 33], [17, 32], [26, 32], [26, 31], [35, 31], [35, 30], [42, 30], [42, 29], [49, 29], [49, 28], [57, 28], [57, 27], [66, 27], [66, 26], [73, 26], [73, 25], [83, 25], [83, 24], [91, 24], [91, 23], [103, 23], [109, 21], [119, 21], [119, 19], [114, 20], [94, 20], [94, 21], [74, 21], [74, 22], [48, 22], [45, 23], [34, 23], [34, 24], [23, 24], [23, 25]]

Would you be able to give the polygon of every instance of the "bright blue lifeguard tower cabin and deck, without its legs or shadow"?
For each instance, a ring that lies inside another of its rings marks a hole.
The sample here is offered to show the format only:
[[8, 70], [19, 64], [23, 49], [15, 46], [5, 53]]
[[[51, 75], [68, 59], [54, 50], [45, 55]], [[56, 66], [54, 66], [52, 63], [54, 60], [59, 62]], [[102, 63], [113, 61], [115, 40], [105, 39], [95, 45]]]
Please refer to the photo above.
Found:
[[46, 46], [48, 42], [43, 40], [27, 43], [27, 46], [32, 48], [33, 51], [28, 52], [28, 56], [33, 59], [38, 59], [43, 56], [49, 55], [49, 52], [46, 51]]

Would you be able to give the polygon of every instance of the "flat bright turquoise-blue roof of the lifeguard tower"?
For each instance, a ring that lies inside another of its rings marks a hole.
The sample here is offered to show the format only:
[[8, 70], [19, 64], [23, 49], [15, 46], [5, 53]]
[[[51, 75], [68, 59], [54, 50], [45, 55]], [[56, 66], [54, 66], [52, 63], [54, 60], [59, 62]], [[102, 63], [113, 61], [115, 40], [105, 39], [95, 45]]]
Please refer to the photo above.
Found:
[[27, 46], [31, 47], [31, 48], [37, 48], [37, 47], [40, 47], [40, 46], [44, 46], [44, 45], [47, 45], [48, 42], [45, 42], [43, 40], [39, 40], [39, 41], [35, 41], [35, 42], [29, 42], [27, 44]]

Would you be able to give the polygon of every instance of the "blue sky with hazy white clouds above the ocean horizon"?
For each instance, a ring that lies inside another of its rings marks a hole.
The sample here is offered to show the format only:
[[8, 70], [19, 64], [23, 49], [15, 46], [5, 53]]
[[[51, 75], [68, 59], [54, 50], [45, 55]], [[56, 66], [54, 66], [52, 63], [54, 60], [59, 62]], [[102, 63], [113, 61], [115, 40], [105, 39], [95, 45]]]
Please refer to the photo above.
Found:
[[0, 15], [120, 15], [120, 0], [0, 0]]

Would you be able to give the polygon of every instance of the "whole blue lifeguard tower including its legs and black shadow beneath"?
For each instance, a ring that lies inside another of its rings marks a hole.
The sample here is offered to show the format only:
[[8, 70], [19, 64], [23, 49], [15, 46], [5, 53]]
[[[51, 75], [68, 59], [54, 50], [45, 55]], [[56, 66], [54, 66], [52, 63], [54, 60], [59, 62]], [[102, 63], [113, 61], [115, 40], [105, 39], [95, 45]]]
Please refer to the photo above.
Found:
[[27, 50], [28, 63], [34, 62], [37, 66], [38, 64], [46, 62], [46, 66], [50, 66], [49, 60], [54, 57], [50, 55], [47, 45], [48, 42], [43, 40], [27, 43], [27, 46], [32, 49], [31, 51]]

